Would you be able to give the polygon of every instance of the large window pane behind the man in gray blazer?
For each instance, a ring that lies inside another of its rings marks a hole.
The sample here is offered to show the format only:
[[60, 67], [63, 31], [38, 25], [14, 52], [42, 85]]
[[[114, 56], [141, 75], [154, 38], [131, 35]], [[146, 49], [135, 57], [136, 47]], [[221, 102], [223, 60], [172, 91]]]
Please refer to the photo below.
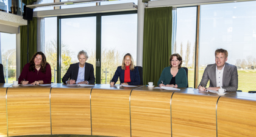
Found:
[[207, 64], [215, 63], [215, 50], [229, 52], [227, 62], [238, 68], [238, 90], [255, 90], [256, 2], [202, 5], [199, 82]]

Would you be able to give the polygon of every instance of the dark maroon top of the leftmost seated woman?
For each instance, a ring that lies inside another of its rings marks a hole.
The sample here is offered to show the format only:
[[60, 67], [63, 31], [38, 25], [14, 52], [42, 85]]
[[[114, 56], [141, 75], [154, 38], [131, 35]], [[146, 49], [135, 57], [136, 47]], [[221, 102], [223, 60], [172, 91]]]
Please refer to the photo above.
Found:
[[29, 81], [29, 83], [35, 82], [35, 81], [43, 81], [43, 84], [51, 83], [52, 81], [52, 73], [51, 73], [51, 65], [46, 65], [46, 72], [41, 72], [41, 68], [39, 71], [35, 69], [35, 72], [29, 72], [29, 66], [30, 63], [27, 63], [21, 72], [21, 75], [19, 77], [19, 84], [21, 84], [21, 81]]

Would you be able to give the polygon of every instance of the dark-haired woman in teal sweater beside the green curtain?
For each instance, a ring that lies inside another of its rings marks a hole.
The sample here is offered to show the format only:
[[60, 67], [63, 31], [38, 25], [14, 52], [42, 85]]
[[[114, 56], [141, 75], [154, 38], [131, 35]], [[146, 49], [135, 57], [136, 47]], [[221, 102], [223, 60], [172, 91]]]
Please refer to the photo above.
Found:
[[181, 68], [182, 57], [179, 54], [173, 54], [169, 61], [170, 67], [163, 69], [157, 85], [159, 87], [187, 87], [187, 73]]

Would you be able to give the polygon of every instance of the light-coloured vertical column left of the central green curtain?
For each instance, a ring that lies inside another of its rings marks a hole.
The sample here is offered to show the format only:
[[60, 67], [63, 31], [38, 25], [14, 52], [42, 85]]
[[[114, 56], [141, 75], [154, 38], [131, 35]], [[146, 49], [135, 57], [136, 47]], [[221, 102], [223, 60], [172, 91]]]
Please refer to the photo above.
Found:
[[143, 58], [143, 28], [144, 28], [144, 8], [146, 5], [142, 0], [138, 0], [138, 26], [137, 26], [137, 65], [142, 66]]

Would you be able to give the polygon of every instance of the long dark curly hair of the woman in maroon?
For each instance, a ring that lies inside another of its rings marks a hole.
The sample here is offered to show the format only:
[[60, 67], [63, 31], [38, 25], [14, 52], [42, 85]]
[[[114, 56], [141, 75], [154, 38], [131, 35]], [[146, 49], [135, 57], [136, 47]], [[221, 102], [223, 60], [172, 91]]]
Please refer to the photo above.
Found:
[[41, 55], [42, 56], [42, 62], [41, 62], [41, 72], [46, 72], [46, 65], [48, 65], [48, 62], [46, 62], [46, 57], [43, 52], [37, 52], [32, 56], [32, 59], [30, 59], [29, 63], [29, 72], [35, 72], [35, 56]]

